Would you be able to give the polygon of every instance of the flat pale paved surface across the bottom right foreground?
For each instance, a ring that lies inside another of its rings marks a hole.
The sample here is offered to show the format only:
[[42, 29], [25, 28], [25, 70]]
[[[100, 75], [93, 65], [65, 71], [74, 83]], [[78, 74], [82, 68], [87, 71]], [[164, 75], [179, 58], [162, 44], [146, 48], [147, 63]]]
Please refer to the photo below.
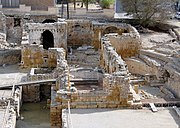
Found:
[[72, 109], [73, 128], [179, 128], [172, 108], [149, 109]]

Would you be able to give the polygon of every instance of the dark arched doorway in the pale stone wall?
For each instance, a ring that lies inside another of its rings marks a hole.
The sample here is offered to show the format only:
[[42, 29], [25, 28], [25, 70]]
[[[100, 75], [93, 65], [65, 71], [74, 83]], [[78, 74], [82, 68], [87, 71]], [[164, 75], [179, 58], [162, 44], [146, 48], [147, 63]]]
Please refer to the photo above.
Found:
[[42, 34], [42, 45], [46, 50], [54, 47], [54, 36], [49, 30], [44, 31]]

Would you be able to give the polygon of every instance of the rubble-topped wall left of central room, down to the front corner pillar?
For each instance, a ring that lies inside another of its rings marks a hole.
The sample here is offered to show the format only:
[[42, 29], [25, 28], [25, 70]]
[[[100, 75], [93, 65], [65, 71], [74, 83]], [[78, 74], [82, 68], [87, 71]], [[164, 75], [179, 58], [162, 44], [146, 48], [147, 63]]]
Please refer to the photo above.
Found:
[[51, 126], [56, 126], [59, 128], [62, 126], [62, 106], [61, 102], [58, 105], [58, 101], [56, 100], [58, 97], [56, 93], [57, 90], [64, 89], [69, 84], [69, 71], [65, 56], [65, 50], [59, 49], [59, 54], [57, 56], [57, 68], [54, 72], [58, 78], [56, 79], [56, 86], [52, 86], [51, 88], [50, 122]]

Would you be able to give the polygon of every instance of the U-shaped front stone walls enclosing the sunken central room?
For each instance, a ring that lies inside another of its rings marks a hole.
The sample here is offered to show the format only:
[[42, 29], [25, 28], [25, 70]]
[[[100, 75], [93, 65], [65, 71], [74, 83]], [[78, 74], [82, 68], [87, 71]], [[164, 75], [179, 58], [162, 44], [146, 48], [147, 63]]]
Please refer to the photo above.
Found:
[[[64, 71], [58, 79], [56, 85], [57, 92], [54, 92], [56, 100], [52, 101], [51, 107], [51, 124], [53, 126], [65, 127], [65, 119], [62, 119], [62, 110], [68, 107], [71, 108], [141, 108], [140, 97], [133, 90], [130, 84], [130, 73], [127, 65], [117, 54], [115, 48], [110, 43], [106, 35], [101, 38], [101, 64], [105, 74], [98, 81], [102, 83], [101, 88], [93, 88], [92, 90], [78, 90], [72, 86], [71, 76], [68, 74], [68, 69]], [[136, 43], [138, 42], [138, 43]], [[140, 45], [140, 40], [134, 42], [135, 45]], [[133, 42], [132, 42], [133, 43]], [[99, 76], [99, 75], [98, 75]], [[88, 77], [91, 80], [91, 77]], [[83, 78], [84, 79], [84, 78]], [[87, 78], [86, 78], [87, 79]], [[57, 88], [58, 86], [58, 88]], [[57, 93], [57, 94], [56, 94]], [[61, 125], [62, 124], [62, 125]]]

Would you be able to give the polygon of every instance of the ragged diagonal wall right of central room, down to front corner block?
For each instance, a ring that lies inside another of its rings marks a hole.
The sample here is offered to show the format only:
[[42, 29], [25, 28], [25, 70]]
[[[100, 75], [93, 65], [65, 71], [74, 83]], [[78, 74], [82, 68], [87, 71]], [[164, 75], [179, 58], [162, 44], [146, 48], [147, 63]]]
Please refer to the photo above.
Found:
[[109, 97], [131, 100], [127, 65], [105, 36], [101, 39], [101, 67], [109, 73], [103, 79], [103, 89], [111, 92]]

